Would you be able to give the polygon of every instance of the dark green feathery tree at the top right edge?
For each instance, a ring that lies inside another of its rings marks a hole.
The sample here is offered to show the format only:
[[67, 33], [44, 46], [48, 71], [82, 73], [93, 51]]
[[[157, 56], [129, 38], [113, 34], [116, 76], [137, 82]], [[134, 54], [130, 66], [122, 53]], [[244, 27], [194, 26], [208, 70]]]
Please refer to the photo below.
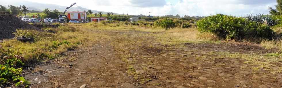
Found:
[[277, 0], [278, 5], [275, 5], [276, 9], [269, 7], [269, 13], [271, 15], [282, 15], [282, 0]]

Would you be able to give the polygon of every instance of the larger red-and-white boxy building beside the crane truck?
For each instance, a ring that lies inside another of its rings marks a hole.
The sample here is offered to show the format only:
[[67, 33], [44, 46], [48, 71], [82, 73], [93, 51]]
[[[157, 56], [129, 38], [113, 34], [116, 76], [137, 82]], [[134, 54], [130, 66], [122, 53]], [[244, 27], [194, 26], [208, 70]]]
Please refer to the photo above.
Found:
[[68, 20], [81, 21], [82, 19], [87, 19], [86, 12], [66, 12], [68, 14]]

